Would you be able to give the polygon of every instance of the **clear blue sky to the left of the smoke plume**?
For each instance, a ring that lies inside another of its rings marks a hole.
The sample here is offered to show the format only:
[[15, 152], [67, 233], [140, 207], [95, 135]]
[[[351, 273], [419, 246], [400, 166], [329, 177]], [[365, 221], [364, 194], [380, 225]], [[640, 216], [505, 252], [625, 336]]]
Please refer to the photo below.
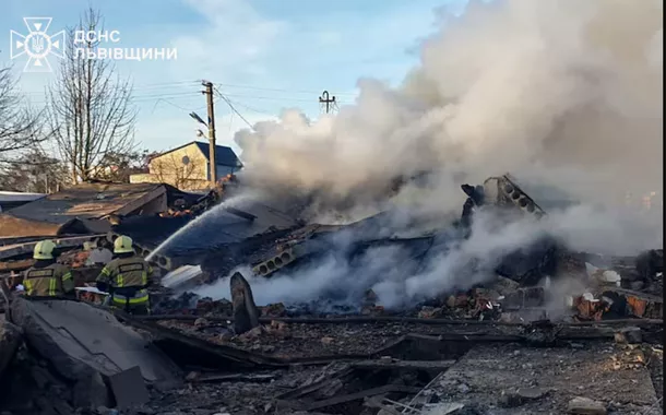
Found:
[[[2, 0], [0, 61], [10, 60], [10, 29], [25, 33], [23, 17], [53, 17], [49, 34], [78, 22], [88, 4], [105, 28], [120, 32], [110, 47], [177, 48], [171, 61], [118, 61], [134, 82], [136, 140], [166, 150], [195, 139], [194, 110], [205, 115], [197, 80], [228, 96], [251, 123], [298, 107], [316, 118], [323, 90], [341, 105], [354, 103], [356, 82], [372, 76], [402, 81], [418, 61], [418, 42], [435, 31], [433, 11], [463, 0]], [[51, 64], [57, 63], [50, 58]], [[21, 73], [20, 86], [44, 105], [48, 73]], [[231, 145], [245, 121], [216, 104], [219, 144]], [[237, 149], [235, 145], [233, 145]]]

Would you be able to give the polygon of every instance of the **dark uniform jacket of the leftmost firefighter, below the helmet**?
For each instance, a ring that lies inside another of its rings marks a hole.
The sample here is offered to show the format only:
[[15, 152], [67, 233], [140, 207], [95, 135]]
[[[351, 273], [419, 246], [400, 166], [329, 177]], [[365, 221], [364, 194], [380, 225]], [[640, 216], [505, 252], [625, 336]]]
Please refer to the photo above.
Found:
[[23, 286], [29, 297], [62, 297], [74, 290], [74, 278], [62, 264], [35, 264], [25, 271]]

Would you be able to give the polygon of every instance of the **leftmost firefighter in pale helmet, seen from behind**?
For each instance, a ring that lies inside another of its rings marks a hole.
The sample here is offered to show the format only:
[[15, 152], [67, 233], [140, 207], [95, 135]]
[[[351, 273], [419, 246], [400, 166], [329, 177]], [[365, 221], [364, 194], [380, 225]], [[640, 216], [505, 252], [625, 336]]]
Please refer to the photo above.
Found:
[[56, 262], [56, 244], [41, 240], [35, 245], [35, 264], [23, 276], [23, 286], [28, 297], [71, 297], [74, 278], [69, 268]]

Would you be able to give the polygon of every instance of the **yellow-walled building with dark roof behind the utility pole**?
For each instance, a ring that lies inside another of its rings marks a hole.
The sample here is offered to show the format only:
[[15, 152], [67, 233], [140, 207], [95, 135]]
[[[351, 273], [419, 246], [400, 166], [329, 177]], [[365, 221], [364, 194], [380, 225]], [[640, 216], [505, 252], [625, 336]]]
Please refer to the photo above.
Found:
[[[192, 141], [153, 157], [148, 173], [130, 176], [130, 182], [163, 182], [181, 190], [201, 190], [209, 186], [210, 163], [209, 143]], [[215, 165], [218, 179], [242, 168], [236, 153], [224, 145], [215, 146]]]

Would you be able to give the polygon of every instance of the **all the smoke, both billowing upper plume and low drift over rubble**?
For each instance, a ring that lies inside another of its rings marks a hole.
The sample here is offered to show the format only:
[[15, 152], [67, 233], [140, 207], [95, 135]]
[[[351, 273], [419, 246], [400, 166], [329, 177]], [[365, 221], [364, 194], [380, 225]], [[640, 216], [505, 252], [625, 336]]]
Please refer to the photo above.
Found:
[[[386, 203], [409, 203], [415, 215], [460, 214], [461, 183], [506, 171], [582, 204], [539, 222], [479, 214], [468, 239], [417, 270], [395, 247], [370, 249], [354, 264], [331, 253], [293, 275], [251, 278], [259, 304], [359, 298], [372, 288], [384, 306], [403, 307], [487, 281], [502, 256], [545, 234], [602, 253], [663, 245], [662, 2], [471, 1], [460, 17], [439, 15], [440, 32], [400, 88], [364, 79], [356, 105], [334, 117], [287, 110], [238, 132], [243, 179], [309, 195], [319, 218]], [[425, 183], [385, 200], [394, 178], [424, 171]], [[651, 214], [626, 206], [628, 193], [651, 191]], [[349, 241], [338, 244], [344, 251]], [[228, 282], [202, 294], [227, 297]]]

